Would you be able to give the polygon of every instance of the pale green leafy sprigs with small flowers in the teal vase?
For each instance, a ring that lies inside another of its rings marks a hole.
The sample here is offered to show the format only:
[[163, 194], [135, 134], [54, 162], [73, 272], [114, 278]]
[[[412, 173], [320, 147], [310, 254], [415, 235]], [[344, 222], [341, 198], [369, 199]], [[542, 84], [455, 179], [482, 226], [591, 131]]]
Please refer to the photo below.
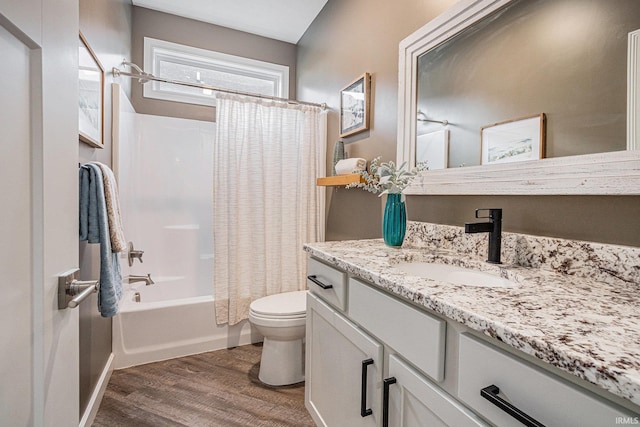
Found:
[[371, 161], [369, 172], [359, 171], [365, 182], [354, 182], [347, 185], [346, 188], [362, 188], [374, 194], [380, 192], [380, 196], [402, 193], [419, 172], [428, 169], [426, 162], [418, 163], [412, 171], [406, 170], [406, 166], [407, 162], [404, 162], [400, 167], [396, 167], [393, 161], [380, 163], [378, 156]]

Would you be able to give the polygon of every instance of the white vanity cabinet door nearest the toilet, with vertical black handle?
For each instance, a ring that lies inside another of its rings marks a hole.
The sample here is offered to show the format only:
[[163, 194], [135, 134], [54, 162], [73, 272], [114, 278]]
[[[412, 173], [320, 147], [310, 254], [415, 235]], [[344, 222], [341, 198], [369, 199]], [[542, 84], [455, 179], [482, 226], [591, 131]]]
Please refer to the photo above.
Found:
[[382, 344], [309, 294], [305, 404], [316, 424], [379, 425], [382, 351]]

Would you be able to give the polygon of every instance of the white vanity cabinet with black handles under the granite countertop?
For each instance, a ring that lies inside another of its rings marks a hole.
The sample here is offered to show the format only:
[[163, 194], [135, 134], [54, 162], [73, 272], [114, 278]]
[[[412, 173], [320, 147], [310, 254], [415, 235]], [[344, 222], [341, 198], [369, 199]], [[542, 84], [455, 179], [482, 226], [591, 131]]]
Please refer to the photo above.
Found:
[[313, 258], [309, 272], [323, 285], [340, 284], [336, 294], [311, 283], [307, 297], [305, 404], [319, 426], [582, 427], [638, 419], [346, 272]]

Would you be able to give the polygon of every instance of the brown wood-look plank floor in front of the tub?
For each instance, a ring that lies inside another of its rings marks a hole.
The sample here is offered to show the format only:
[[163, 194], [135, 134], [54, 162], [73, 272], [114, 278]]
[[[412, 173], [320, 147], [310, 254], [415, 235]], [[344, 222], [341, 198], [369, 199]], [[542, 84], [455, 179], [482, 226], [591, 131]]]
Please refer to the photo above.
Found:
[[262, 346], [114, 371], [94, 426], [314, 426], [304, 383], [260, 383]]

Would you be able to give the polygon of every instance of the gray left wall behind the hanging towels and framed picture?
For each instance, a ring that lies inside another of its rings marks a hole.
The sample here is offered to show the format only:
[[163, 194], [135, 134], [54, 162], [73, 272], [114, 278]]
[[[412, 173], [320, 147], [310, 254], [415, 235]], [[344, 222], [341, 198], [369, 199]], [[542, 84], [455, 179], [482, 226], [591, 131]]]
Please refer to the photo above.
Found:
[[[131, 56], [130, 0], [80, 0], [80, 31], [98, 56], [105, 70], [104, 148], [92, 148], [80, 143], [80, 163], [99, 161], [112, 165], [111, 157], [111, 68], [122, 58]], [[128, 79], [118, 79], [129, 91]], [[126, 231], [126, 230], [125, 230]], [[80, 243], [80, 277], [92, 280], [100, 277], [100, 248], [96, 244]], [[81, 304], [80, 310], [80, 416], [96, 387], [111, 354], [111, 319], [97, 311], [97, 296]]]

